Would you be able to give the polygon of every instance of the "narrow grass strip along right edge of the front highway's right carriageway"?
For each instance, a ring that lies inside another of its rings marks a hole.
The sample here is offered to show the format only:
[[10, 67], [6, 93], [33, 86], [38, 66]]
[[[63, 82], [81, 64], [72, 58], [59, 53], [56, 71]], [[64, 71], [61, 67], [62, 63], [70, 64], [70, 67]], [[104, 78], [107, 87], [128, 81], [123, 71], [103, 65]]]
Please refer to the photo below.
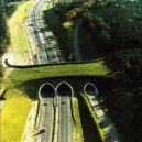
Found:
[[78, 100], [76, 98], [73, 99], [73, 105], [74, 105], [74, 113], [75, 113], [75, 120], [76, 120], [76, 125], [75, 124], [73, 125], [73, 142], [84, 142]]

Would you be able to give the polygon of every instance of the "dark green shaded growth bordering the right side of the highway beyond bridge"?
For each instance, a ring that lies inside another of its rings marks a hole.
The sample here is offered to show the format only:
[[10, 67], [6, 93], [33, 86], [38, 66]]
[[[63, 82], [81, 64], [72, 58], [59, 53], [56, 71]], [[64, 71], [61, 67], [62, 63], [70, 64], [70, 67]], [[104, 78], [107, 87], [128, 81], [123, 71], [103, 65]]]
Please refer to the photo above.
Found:
[[[54, 8], [51, 8], [44, 11], [44, 19], [48, 28], [53, 31], [56, 36], [56, 40], [59, 44], [62, 54], [66, 61], [69, 61], [72, 53], [72, 37], [69, 35], [70, 31], [63, 25], [63, 20], [59, 13], [54, 11]], [[47, 30], [47, 29], [46, 29]], [[54, 40], [54, 39], [53, 39]]]

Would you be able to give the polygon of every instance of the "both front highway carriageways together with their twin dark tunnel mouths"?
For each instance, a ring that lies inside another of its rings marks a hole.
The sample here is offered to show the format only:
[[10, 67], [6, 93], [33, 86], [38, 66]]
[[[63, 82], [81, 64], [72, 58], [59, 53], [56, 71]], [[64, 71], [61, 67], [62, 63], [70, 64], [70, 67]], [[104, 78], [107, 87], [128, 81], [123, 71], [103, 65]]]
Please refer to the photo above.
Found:
[[57, 94], [50, 84], [40, 89], [39, 132], [46, 130], [36, 136], [36, 142], [72, 142], [72, 91], [67, 85], [64, 90], [64, 86], [57, 88]]

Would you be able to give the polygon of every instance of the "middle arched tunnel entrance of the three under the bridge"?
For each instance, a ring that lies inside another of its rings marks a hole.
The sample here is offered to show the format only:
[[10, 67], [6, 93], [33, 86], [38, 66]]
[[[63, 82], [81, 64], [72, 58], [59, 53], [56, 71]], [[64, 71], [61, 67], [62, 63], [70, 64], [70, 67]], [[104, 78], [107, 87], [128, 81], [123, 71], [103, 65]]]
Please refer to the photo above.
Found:
[[56, 87], [56, 94], [58, 96], [74, 96], [74, 90], [68, 83], [62, 81]]

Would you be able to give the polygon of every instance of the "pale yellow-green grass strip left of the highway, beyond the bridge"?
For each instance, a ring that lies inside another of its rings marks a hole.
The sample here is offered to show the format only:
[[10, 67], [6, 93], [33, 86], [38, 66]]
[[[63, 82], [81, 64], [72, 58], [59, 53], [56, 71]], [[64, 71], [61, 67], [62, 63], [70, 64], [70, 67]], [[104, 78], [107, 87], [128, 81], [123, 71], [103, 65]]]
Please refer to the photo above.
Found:
[[23, 20], [33, 6], [34, 0], [19, 3], [17, 11], [9, 19], [8, 25], [11, 35], [11, 50], [14, 54], [15, 64], [20, 62], [29, 63], [29, 42], [24, 30]]

